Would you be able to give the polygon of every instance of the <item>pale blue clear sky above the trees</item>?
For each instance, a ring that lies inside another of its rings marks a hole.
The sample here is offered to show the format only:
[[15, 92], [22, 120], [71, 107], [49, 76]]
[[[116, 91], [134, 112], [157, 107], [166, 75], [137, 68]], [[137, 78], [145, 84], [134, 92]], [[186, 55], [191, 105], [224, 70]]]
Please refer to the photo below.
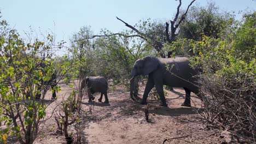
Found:
[[[187, 8], [191, 0], [183, 0], [182, 8]], [[194, 5], [206, 5], [208, 1], [197, 0]], [[216, 0], [220, 9], [235, 11], [237, 19], [242, 14], [238, 11], [255, 11], [254, 0]], [[91, 26], [95, 34], [101, 28], [112, 32], [127, 29], [115, 16], [134, 25], [141, 19], [172, 19], [178, 1], [174, 0], [1, 0], [0, 9], [3, 19], [11, 27], [18, 29], [24, 37], [30, 26], [38, 35], [54, 32], [57, 40], [69, 41], [73, 33], [82, 26]]]

